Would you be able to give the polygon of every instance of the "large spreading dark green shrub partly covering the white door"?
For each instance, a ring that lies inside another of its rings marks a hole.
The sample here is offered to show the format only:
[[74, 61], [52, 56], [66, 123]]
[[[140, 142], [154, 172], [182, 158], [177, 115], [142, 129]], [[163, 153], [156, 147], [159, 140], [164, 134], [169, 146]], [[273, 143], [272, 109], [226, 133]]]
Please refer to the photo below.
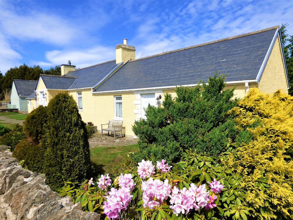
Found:
[[234, 89], [223, 90], [224, 86], [224, 77], [215, 75], [202, 86], [176, 87], [177, 97], [173, 100], [170, 94], [166, 94], [163, 107], [149, 106], [147, 119], [140, 119], [132, 126], [140, 139], [142, 154], [137, 153], [136, 157], [146, 159], [155, 154], [154, 158], [159, 159], [159, 154], [155, 153], [157, 150], [150, 148], [165, 149], [174, 142], [178, 145], [178, 152], [165, 150], [167, 155], [164, 155], [165, 159], [173, 158], [173, 162], [178, 161], [184, 150], [191, 148], [197, 149], [199, 154], [223, 153], [229, 138], [234, 140], [238, 133], [233, 116], [226, 114], [237, 103], [232, 100]]

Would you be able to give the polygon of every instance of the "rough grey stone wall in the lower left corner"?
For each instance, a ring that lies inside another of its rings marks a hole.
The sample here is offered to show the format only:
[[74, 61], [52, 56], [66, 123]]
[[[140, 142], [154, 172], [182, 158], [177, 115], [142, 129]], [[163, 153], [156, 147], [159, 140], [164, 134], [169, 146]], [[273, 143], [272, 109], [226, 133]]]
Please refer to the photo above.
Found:
[[78, 202], [61, 197], [45, 184], [45, 175], [24, 170], [7, 146], [0, 146], [1, 220], [99, 220], [100, 214], [83, 212]]

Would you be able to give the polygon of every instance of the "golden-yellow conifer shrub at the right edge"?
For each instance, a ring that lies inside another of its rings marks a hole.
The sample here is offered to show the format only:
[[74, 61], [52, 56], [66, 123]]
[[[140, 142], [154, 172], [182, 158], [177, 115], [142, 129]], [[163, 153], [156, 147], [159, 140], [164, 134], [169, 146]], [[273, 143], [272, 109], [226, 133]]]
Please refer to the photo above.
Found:
[[251, 216], [293, 219], [293, 97], [280, 90], [269, 95], [251, 89], [228, 114], [252, 136], [238, 144], [236, 157], [231, 153], [222, 160], [243, 176]]

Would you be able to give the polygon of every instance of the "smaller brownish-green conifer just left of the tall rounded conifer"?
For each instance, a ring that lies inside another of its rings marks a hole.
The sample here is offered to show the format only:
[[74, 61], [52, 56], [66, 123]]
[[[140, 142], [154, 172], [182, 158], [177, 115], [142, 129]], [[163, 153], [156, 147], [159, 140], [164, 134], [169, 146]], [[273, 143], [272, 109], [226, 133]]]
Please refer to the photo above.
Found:
[[24, 120], [23, 130], [35, 143], [39, 143], [44, 135], [45, 124], [47, 123], [47, 109], [40, 105], [28, 114]]

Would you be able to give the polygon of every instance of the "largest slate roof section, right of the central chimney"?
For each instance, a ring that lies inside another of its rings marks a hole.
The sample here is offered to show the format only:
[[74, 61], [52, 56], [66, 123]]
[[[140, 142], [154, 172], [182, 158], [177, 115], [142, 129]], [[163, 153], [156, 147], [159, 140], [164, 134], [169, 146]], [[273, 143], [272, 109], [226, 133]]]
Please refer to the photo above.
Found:
[[94, 92], [256, 79], [277, 27], [127, 62]]

